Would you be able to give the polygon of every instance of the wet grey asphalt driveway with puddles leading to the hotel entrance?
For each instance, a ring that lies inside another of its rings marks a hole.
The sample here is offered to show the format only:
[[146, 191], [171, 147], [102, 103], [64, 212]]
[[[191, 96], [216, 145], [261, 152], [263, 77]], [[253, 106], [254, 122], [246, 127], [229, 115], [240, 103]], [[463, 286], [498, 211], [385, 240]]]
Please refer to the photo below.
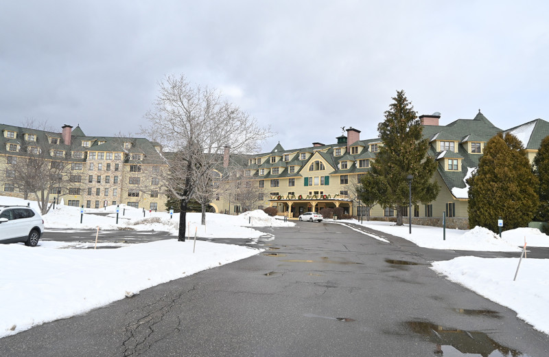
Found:
[[385, 243], [329, 222], [264, 231], [231, 241], [258, 255], [1, 338], [0, 356], [549, 356], [548, 335], [430, 269], [514, 253], [369, 230]]

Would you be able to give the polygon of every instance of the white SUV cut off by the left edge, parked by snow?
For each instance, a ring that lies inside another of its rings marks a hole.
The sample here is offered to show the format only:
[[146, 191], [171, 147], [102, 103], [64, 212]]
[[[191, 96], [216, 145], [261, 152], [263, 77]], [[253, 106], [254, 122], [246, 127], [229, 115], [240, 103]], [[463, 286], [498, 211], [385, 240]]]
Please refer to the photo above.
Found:
[[26, 206], [0, 206], [0, 243], [24, 242], [36, 246], [44, 233], [44, 220]]

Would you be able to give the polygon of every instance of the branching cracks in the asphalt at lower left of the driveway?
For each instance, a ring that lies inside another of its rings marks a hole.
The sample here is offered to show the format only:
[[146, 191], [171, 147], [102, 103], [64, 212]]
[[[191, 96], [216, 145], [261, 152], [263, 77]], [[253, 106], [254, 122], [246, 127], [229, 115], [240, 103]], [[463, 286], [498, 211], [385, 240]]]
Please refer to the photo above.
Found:
[[184, 295], [195, 289], [196, 286], [193, 286], [191, 289], [172, 297], [165, 295], [162, 299], [141, 307], [139, 310], [143, 311], [143, 315], [133, 322], [128, 322], [125, 327], [126, 340], [121, 345], [124, 348], [123, 356], [139, 356], [147, 352], [155, 343], [163, 341], [167, 336], [176, 332], [180, 332], [181, 319], [176, 314], [174, 326], [171, 329], [168, 327], [167, 333], [153, 338], [155, 333], [160, 332], [160, 329], [156, 327], [165, 321], [164, 318], [170, 313], [170, 310], [178, 304], [178, 301], [183, 299]]

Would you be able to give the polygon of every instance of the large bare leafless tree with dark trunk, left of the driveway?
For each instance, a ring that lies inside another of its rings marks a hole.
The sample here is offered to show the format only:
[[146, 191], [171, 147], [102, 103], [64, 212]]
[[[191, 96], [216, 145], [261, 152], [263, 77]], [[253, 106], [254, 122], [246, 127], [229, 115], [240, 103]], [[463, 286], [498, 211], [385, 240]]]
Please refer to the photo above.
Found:
[[257, 152], [270, 135], [215, 89], [191, 85], [185, 76], [165, 76], [159, 95], [145, 113], [150, 126], [141, 133], [162, 144], [170, 170], [161, 175], [163, 186], [180, 200], [178, 240], [185, 241], [187, 204], [200, 178], [223, 165], [224, 148], [232, 154]]

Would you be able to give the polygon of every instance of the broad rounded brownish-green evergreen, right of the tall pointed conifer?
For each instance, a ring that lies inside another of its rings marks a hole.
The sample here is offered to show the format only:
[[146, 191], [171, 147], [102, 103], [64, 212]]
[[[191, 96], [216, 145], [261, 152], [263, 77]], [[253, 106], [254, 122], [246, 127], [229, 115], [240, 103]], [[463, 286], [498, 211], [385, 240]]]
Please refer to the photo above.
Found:
[[488, 141], [478, 170], [467, 183], [470, 227], [497, 232], [499, 217], [504, 230], [526, 227], [537, 210], [537, 177], [522, 143], [509, 133]]

